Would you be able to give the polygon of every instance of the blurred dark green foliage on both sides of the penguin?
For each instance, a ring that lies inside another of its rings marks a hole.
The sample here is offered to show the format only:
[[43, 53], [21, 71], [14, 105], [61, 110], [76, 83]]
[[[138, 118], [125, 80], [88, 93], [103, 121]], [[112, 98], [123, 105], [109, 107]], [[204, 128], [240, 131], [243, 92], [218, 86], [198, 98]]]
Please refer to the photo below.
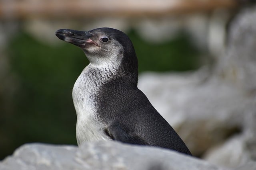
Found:
[[[128, 36], [136, 50], [139, 72], [185, 71], [200, 66], [201, 52], [184, 32], [162, 44], [145, 42], [133, 30]], [[12, 96], [12, 108], [3, 111], [0, 107], [0, 159], [24, 143], [76, 145], [72, 88], [88, 64], [82, 50], [65, 42], [46, 45], [21, 30], [8, 45], [7, 54], [18, 90]]]

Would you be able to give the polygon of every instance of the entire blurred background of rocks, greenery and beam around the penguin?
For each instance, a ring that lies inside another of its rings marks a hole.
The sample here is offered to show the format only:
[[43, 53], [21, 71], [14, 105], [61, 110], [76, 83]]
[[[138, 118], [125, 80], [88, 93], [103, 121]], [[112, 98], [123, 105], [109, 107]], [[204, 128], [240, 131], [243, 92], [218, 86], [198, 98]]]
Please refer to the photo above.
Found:
[[88, 64], [61, 28], [128, 34], [139, 88], [192, 154], [256, 159], [256, 8], [249, 0], [1, 0], [0, 159], [24, 143], [76, 145], [72, 87]]

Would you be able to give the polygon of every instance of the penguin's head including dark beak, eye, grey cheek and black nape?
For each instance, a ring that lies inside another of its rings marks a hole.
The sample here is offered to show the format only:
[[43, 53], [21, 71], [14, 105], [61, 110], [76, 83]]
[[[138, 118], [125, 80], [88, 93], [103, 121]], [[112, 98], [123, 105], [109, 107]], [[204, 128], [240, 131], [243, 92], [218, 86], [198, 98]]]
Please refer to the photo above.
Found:
[[124, 72], [130, 73], [138, 72], [134, 47], [122, 31], [107, 27], [90, 31], [59, 29], [55, 35], [80, 47], [92, 66], [121, 68]]

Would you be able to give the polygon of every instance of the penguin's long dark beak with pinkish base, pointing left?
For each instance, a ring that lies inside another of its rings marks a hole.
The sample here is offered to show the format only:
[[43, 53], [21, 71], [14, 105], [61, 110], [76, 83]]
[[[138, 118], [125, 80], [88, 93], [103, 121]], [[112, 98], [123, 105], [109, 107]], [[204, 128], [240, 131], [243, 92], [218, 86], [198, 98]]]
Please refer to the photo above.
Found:
[[94, 35], [90, 32], [77, 31], [73, 29], [59, 29], [55, 32], [55, 35], [59, 39], [78, 47], [85, 47], [86, 44], [94, 44], [98, 46], [98, 44], [91, 39]]

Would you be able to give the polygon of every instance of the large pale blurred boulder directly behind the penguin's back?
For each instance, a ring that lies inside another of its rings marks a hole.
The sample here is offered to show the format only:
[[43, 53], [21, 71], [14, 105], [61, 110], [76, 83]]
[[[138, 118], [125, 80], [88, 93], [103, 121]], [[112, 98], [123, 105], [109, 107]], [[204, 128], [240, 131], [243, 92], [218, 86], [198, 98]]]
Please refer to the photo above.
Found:
[[242, 131], [251, 98], [236, 86], [200, 73], [140, 76], [140, 89], [174, 127], [194, 155]]

